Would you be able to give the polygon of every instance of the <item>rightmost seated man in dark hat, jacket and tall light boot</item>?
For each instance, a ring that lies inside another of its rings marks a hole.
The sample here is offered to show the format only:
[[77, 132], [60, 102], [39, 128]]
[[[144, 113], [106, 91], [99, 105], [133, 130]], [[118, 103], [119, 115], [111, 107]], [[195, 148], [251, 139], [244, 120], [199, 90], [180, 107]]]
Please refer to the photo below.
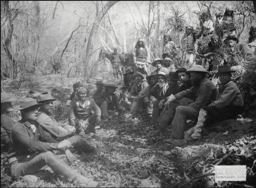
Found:
[[218, 74], [221, 85], [217, 99], [208, 106], [200, 109], [196, 126], [184, 133], [185, 139], [199, 139], [206, 120], [209, 123], [213, 123], [215, 121], [234, 118], [240, 113], [242, 110], [241, 106], [244, 105], [244, 100], [237, 85], [231, 79], [231, 72], [236, 71], [231, 71], [228, 65], [218, 67], [216, 74]]

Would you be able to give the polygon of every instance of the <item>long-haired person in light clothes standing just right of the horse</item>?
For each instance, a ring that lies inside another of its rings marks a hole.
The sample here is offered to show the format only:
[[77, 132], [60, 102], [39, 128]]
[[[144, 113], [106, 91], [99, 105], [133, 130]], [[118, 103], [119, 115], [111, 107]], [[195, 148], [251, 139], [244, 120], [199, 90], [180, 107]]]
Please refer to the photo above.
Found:
[[141, 72], [144, 77], [149, 75], [148, 65], [150, 64], [150, 52], [142, 38], [139, 38], [133, 52], [133, 61], [137, 70]]

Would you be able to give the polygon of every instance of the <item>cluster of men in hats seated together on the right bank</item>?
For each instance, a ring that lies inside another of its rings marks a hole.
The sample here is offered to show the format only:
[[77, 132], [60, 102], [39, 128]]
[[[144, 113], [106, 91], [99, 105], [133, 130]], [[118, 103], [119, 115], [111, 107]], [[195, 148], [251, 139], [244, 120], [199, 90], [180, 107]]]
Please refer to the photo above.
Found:
[[[152, 64], [161, 63], [157, 59]], [[171, 129], [171, 138], [166, 141], [172, 146], [199, 139], [207, 122], [234, 118], [242, 111], [242, 94], [231, 79], [232, 72], [236, 71], [229, 65], [221, 65], [215, 72], [220, 81], [219, 89], [207, 78], [209, 72], [201, 65], [189, 70], [180, 68], [169, 74], [164, 71], [154, 71], [146, 77], [147, 81], [140, 72], [126, 72], [124, 78], [128, 81], [122, 98], [130, 104], [132, 112], [141, 112], [144, 106], [150, 123], [158, 129]], [[186, 131], [187, 120], [197, 120], [197, 124]]]

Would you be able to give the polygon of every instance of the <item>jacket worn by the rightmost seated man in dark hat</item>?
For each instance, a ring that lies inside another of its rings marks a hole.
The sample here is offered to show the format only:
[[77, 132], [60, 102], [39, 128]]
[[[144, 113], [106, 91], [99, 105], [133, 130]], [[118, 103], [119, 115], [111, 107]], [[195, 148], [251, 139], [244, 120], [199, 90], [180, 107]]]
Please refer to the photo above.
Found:
[[232, 81], [220, 87], [217, 100], [212, 102], [209, 106], [216, 108], [224, 108], [227, 106], [243, 106], [244, 100], [242, 94], [236, 84]]

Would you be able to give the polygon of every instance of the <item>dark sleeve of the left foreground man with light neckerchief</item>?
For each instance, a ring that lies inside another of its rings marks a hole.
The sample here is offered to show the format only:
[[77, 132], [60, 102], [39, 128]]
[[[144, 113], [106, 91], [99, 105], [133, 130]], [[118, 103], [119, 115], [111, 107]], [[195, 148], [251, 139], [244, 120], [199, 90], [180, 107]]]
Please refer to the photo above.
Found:
[[46, 152], [52, 150], [50, 146], [51, 143], [35, 141], [29, 137], [27, 130], [22, 126], [16, 126], [14, 129], [12, 129], [12, 140], [16, 140], [18, 143], [31, 151]]

